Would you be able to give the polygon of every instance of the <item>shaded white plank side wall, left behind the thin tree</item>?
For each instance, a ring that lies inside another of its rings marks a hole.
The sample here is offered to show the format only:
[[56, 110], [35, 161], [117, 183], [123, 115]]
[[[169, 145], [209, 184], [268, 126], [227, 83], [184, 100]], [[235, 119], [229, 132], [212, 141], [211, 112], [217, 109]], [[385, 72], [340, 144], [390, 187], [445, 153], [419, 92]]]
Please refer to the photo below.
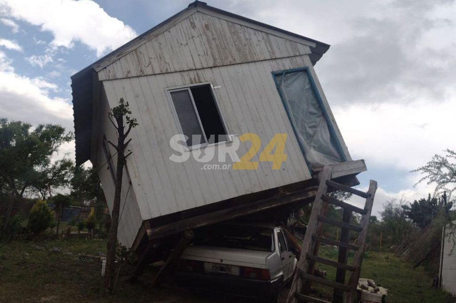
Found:
[[[117, 141], [117, 134], [114, 129], [114, 126], [108, 120], [108, 101], [104, 93], [101, 94], [100, 106], [99, 109], [99, 132], [98, 132], [98, 148], [97, 148], [97, 162], [93, 163], [95, 169], [98, 170], [98, 176], [100, 178], [101, 184], [103, 186], [104, 196], [108, 204], [109, 211], [112, 211], [112, 204], [114, 201], [114, 181], [111, 177], [111, 173], [108, 170], [108, 164], [104, 151], [102, 148], [103, 136], [106, 136], [107, 140], [112, 142]], [[109, 97], [108, 97], [109, 98]], [[133, 142], [134, 140], [132, 140]], [[114, 148], [108, 144], [108, 148], [113, 156], [113, 163], [117, 161], [117, 155], [115, 155]], [[124, 169], [124, 175], [122, 178], [122, 196], [120, 201], [120, 217], [119, 217], [119, 233], [118, 239], [119, 243], [124, 246], [131, 247], [133, 241], [135, 240], [136, 234], [140, 229], [142, 224], [142, 218], [140, 209], [138, 207], [138, 201], [136, 195], [138, 195], [140, 201], [145, 201], [144, 192], [136, 185], [136, 191], [133, 187], [130, 187], [130, 177], [132, 181], [136, 180], [137, 167], [135, 165], [130, 165], [129, 159], [127, 160], [127, 167]], [[130, 189], [129, 189], [130, 187]], [[128, 195], [127, 195], [128, 192]], [[144, 208], [146, 211], [148, 208]], [[147, 215], [147, 212], [145, 212]]]

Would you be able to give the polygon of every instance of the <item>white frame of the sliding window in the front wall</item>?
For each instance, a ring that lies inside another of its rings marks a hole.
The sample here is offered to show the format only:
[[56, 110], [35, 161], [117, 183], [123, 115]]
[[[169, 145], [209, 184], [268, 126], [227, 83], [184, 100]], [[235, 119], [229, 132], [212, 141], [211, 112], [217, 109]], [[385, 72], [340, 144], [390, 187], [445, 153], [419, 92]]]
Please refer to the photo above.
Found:
[[[193, 99], [192, 90], [190, 89], [191, 87], [194, 87], [194, 86], [204, 86], [204, 85], [209, 85], [209, 87], [211, 89], [212, 99], [215, 102], [215, 106], [217, 108], [218, 115], [220, 116], [220, 120], [222, 121], [223, 130], [225, 131], [226, 136], [228, 138], [225, 141], [219, 141], [219, 142], [214, 142], [214, 143], [210, 143], [210, 144], [207, 141], [208, 138], [206, 137], [206, 132], [204, 131], [204, 127], [202, 126], [201, 117], [199, 115], [197, 106], [195, 104], [195, 100]], [[205, 142], [204, 143], [200, 143], [200, 144], [195, 144], [195, 145], [192, 145], [192, 146], [188, 146], [187, 145], [187, 141], [186, 141], [185, 144], [186, 144], [186, 146], [187, 146], [189, 151], [196, 150], [196, 149], [201, 149], [201, 148], [204, 148], [204, 147], [207, 147], [207, 146], [216, 146], [218, 144], [226, 144], [226, 143], [229, 143], [229, 142], [233, 141], [232, 135], [230, 135], [229, 132], [228, 132], [227, 123], [226, 123], [225, 119], [223, 118], [222, 112], [220, 111], [220, 103], [218, 102], [217, 96], [216, 96], [215, 91], [214, 91], [214, 85], [212, 84], [212, 82], [201, 82], [201, 83], [195, 83], [195, 84], [187, 84], [187, 85], [175, 86], [175, 87], [171, 87], [171, 88], [166, 88], [165, 90], [166, 90], [166, 94], [168, 96], [169, 104], [171, 106], [171, 113], [174, 116], [174, 120], [176, 120], [177, 128], [178, 128], [178, 130], [180, 131], [181, 134], [183, 134], [184, 131], [182, 130], [181, 121], [179, 120], [179, 116], [177, 115], [176, 106], [174, 105], [174, 102], [172, 100], [171, 93], [172, 92], [177, 92], [177, 91], [182, 91], [182, 90], [187, 90], [188, 94], [190, 95], [190, 99], [192, 100], [193, 110], [195, 110], [195, 113], [197, 114], [198, 123], [200, 125], [201, 131], [202, 131], [202, 136], [203, 136], [203, 139], [204, 139]]]

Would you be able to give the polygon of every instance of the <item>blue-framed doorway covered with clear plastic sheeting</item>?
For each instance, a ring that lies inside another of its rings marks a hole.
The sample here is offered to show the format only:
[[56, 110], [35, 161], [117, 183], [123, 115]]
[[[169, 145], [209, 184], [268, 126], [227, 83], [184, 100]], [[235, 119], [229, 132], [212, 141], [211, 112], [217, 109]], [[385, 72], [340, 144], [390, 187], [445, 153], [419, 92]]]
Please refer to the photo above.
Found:
[[347, 161], [309, 68], [272, 74], [309, 169]]

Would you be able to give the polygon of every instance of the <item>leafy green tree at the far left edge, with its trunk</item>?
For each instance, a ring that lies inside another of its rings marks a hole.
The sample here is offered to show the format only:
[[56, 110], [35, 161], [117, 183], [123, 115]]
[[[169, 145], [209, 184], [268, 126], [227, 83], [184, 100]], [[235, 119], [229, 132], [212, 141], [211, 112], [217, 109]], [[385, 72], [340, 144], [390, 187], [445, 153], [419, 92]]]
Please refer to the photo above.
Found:
[[[4, 193], [22, 200], [26, 190], [40, 182], [41, 172], [51, 165], [51, 157], [73, 134], [60, 125], [31, 125], [0, 119], [0, 184]], [[3, 230], [9, 224], [14, 199], [10, 198]]]

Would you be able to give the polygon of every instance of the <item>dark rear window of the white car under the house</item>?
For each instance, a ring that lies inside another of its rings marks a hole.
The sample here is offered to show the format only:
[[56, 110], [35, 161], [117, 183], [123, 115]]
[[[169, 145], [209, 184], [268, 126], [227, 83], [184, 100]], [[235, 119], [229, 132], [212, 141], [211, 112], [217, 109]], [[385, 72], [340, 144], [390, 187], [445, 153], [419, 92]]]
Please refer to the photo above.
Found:
[[219, 225], [199, 229], [193, 241], [196, 245], [274, 251], [270, 228], [242, 225]]

